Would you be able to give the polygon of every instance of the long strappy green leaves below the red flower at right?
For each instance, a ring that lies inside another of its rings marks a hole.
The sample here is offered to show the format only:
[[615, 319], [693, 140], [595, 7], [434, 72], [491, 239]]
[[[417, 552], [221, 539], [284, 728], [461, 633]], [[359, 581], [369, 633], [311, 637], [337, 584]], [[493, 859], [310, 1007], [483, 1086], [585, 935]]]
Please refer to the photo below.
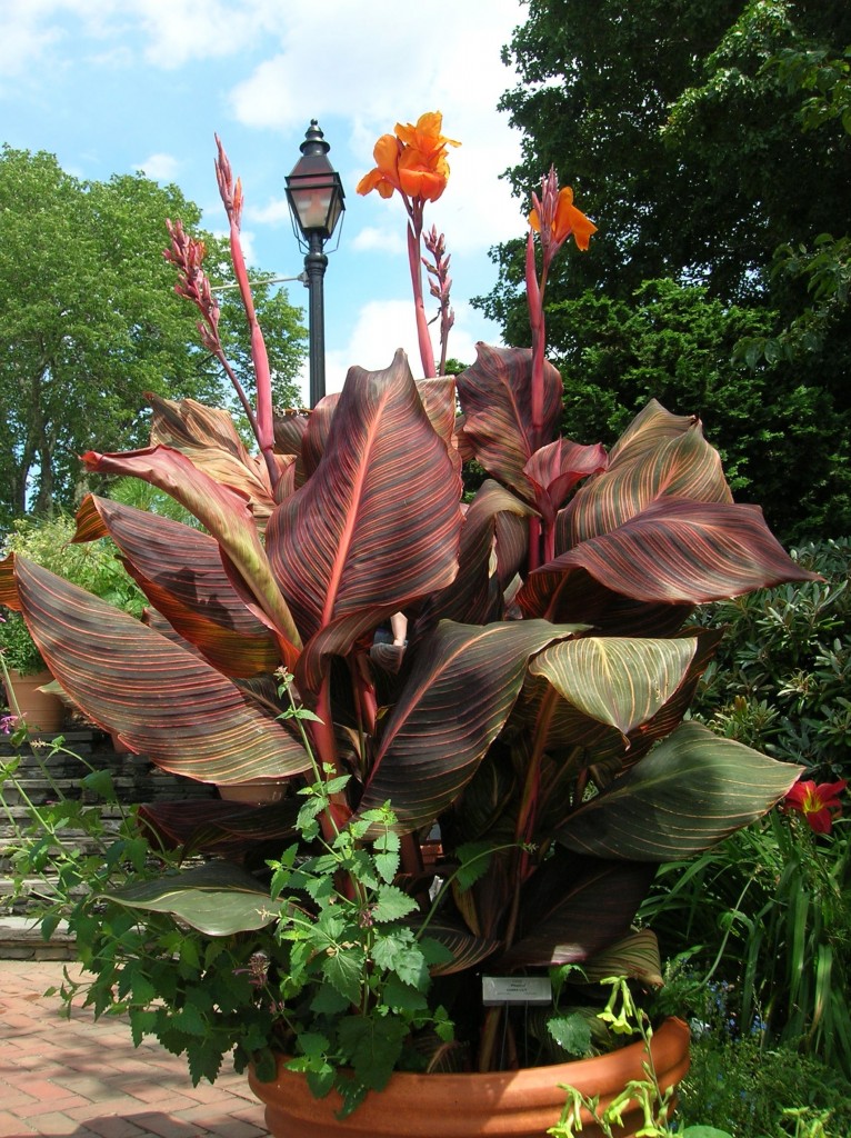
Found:
[[[776, 813], [686, 866], [662, 867], [643, 916], [671, 956], [693, 950], [736, 1033], [759, 1029], [851, 1078], [851, 835]], [[718, 930], [722, 931], [720, 945]]]

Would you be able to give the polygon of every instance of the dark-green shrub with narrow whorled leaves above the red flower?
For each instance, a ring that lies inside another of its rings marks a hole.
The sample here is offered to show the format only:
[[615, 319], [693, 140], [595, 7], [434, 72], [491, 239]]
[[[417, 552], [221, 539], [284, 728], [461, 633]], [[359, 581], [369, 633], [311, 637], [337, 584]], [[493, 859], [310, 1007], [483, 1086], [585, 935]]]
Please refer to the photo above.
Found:
[[725, 638], [693, 714], [832, 782], [851, 775], [851, 539], [807, 543], [792, 555], [825, 579], [705, 611]]

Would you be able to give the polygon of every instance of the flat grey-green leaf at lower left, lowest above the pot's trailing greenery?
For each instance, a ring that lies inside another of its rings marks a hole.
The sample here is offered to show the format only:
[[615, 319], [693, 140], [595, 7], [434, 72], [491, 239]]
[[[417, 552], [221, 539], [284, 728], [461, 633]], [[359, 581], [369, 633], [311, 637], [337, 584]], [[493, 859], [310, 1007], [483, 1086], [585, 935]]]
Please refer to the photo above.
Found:
[[131, 909], [170, 913], [208, 937], [265, 929], [278, 916], [268, 890], [230, 861], [208, 861], [98, 896]]

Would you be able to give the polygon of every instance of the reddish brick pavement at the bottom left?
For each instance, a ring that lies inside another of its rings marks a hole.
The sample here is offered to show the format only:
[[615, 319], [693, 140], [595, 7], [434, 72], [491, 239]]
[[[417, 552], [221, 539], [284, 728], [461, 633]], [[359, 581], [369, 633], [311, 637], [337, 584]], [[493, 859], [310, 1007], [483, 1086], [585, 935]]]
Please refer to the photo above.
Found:
[[192, 1087], [182, 1058], [134, 1048], [119, 1019], [63, 1019], [43, 992], [66, 966], [0, 960], [0, 1138], [265, 1138], [245, 1075]]

